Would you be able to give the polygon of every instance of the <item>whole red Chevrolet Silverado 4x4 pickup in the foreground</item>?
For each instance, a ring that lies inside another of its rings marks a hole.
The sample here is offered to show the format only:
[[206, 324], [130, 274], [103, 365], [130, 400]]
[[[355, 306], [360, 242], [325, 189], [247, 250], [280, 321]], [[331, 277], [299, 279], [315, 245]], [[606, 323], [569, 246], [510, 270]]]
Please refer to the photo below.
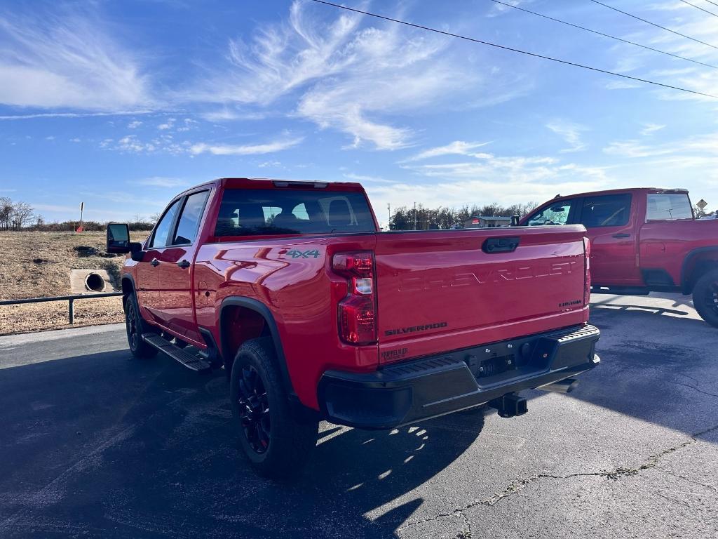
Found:
[[144, 244], [108, 225], [131, 353], [223, 368], [241, 446], [301, 468], [319, 420], [394, 428], [594, 368], [583, 226], [380, 232], [358, 183], [228, 178], [177, 195]]

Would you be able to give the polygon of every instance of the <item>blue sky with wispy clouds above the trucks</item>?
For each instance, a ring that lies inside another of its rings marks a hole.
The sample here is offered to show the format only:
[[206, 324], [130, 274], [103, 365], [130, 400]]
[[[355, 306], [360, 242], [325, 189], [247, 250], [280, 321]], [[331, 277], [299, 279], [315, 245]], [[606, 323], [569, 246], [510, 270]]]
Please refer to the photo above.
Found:
[[[718, 7], [694, 0], [718, 13]], [[678, 0], [606, 0], [718, 45]], [[588, 0], [526, 9], [718, 65], [718, 50]], [[718, 93], [718, 70], [490, 0], [346, 5]], [[161, 211], [221, 176], [356, 180], [386, 206], [685, 187], [718, 208], [718, 100], [311, 1], [0, 2], [0, 196], [47, 221]]]

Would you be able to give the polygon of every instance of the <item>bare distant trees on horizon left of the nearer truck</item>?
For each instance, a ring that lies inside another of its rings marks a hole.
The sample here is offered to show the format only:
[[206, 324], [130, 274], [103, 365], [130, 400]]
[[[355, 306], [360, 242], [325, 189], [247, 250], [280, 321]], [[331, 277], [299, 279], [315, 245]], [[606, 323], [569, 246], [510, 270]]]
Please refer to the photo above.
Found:
[[[130, 230], [151, 230], [159, 216], [154, 215], [145, 219], [139, 215], [129, 223]], [[53, 221], [47, 223], [45, 218], [35, 213], [34, 208], [27, 202], [14, 202], [8, 197], [0, 197], [0, 231], [39, 231], [63, 232], [75, 231], [80, 221]], [[107, 223], [98, 221], [83, 221], [84, 231], [104, 231]]]

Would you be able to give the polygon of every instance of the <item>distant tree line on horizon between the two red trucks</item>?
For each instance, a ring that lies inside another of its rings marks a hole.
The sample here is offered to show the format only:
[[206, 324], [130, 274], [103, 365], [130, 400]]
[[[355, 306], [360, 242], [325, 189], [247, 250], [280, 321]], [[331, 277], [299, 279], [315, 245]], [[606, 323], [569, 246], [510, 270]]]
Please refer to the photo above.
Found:
[[459, 209], [439, 206], [426, 208], [422, 204], [414, 208], [401, 206], [396, 208], [389, 218], [389, 230], [414, 230], [414, 215], [416, 215], [416, 230], [462, 229], [465, 222], [473, 216], [525, 216], [538, 206], [538, 203], [514, 204], [501, 206], [497, 203], [484, 206], [462, 206]]

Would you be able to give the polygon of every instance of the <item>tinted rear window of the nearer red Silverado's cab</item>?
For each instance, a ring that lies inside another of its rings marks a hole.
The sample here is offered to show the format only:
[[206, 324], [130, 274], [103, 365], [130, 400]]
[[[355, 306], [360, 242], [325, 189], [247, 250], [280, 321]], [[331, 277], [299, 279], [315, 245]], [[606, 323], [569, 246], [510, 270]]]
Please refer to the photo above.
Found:
[[226, 189], [215, 236], [376, 231], [363, 193], [300, 189]]

